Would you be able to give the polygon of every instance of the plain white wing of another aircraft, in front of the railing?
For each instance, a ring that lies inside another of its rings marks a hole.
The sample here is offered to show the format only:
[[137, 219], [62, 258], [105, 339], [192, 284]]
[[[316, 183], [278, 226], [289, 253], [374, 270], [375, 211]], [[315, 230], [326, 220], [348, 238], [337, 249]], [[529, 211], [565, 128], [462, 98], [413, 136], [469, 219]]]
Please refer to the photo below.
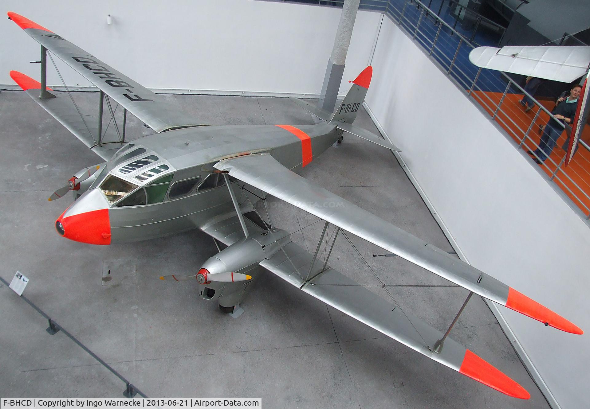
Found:
[[477, 47], [469, 53], [469, 61], [478, 67], [491, 70], [571, 83], [588, 71], [590, 47]]

